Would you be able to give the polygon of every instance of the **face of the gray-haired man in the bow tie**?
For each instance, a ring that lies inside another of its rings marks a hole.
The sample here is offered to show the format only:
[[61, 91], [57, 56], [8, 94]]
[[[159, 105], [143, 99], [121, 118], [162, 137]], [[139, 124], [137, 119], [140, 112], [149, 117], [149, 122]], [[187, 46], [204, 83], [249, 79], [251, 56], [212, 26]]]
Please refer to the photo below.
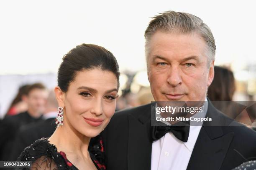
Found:
[[156, 101], [204, 101], [214, 70], [205, 41], [195, 34], [157, 31], [150, 42], [148, 80]]

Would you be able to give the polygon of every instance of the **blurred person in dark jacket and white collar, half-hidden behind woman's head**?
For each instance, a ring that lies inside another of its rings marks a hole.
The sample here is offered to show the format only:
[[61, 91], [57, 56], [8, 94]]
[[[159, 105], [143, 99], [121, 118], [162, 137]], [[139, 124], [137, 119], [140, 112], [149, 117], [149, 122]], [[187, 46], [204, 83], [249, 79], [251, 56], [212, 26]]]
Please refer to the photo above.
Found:
[[49, 138], [56, 129], [55, 118], [58, 111], [58, 102], [54, 90], [49, 92], [43, 121], [20, 127], [15, 138], [10, 160], [15, 161], [20, 153], [37, 139]]

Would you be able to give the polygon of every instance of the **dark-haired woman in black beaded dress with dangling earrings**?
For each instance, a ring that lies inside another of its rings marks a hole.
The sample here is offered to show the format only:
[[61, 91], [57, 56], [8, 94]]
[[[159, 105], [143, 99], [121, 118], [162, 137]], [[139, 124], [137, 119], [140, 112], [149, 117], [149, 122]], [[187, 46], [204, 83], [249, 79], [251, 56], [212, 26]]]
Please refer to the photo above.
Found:
[[[55, 87], [57, 128], [25, 148], [18, 161], [31, 161], [33, 170], [105, 170], [102, 140], [94, 137], [115, 112], [119, 75], [115, 57], [103, 47], [82, 44], [69, 51]], [[97, 145], [89, 152], [91, 138]]]

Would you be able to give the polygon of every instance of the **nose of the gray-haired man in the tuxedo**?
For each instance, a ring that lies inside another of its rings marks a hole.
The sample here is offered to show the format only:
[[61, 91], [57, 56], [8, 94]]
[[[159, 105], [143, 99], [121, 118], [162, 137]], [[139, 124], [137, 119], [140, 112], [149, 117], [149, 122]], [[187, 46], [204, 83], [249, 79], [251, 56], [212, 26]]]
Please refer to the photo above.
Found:
[[170, 67], [170, 70], [168, 72], [167, 82], [172, 87], [176, 87], [177, 85], [181, 84], [182, 78], [180, 76], [179, 67]]

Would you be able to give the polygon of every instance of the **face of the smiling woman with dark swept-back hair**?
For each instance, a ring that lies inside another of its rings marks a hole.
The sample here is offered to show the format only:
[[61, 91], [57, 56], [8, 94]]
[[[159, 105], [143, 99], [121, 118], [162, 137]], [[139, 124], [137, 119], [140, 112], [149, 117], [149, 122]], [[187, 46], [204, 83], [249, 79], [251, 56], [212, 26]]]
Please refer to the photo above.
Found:
[[70, 125], [87, 137], [97, 136], [115, 112], [118, 81], [113, 72], [100, 69], [77, 72], [62, 93], [64, 126]]

